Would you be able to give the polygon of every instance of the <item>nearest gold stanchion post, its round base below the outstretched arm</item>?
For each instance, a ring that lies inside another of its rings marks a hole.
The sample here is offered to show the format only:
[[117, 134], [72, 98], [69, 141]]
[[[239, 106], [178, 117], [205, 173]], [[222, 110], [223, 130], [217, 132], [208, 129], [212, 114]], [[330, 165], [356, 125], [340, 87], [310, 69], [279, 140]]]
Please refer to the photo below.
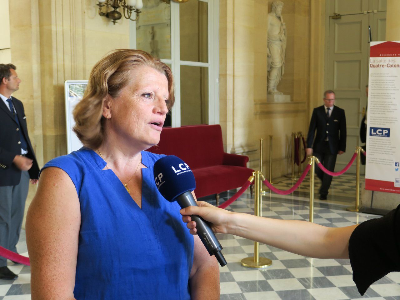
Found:
[[[253, 172], [254, 176], [254, 215], [261, 216], [261, 178], [260, 171]], [[254, 242], [254, 256], [243, 258], [241, 261], [242, 266], [248, 268], [266, 268], [272, 265], [272, 260], [260, 257], [259, 243]]]

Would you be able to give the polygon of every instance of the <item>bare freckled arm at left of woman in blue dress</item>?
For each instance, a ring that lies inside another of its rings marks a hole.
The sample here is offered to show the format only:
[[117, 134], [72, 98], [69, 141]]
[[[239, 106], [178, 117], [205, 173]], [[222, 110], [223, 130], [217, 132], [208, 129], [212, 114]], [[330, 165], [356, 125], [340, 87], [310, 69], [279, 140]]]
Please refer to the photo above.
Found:
[[26, 217], [32, 300], [73, 300], [80, 227], [76, 188], [59, 168], [42, 171]]

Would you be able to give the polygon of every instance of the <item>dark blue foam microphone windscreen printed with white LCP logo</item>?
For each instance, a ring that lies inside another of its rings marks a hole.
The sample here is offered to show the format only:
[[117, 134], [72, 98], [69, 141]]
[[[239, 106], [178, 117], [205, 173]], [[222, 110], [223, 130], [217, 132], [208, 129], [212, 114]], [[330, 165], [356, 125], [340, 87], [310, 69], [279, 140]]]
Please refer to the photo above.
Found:
[[185, 192], [196, 188], [196, 181], [189, 166], [183, 160], [168, 155], [154, 164], [154, 180], [160, 194], [170, 202]]

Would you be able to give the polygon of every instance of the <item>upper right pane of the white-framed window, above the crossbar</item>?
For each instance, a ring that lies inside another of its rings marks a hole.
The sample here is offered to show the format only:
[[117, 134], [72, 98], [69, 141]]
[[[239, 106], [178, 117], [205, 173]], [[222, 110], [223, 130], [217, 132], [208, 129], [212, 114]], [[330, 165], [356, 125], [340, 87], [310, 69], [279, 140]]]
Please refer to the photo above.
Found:
[[208, 62], [208, 3], [191, 0], [180, 4], [180, 60]]

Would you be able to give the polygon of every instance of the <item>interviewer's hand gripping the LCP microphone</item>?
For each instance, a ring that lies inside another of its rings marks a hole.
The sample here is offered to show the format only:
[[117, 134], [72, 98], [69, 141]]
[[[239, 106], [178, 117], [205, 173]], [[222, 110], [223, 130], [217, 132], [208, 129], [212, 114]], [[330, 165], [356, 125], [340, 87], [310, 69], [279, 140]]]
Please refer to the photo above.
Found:
[[198, 201], [198, 206], [188, 206], [180, 210], [183, 222], [187, 223], [186, 227], [190, 229], [191, 234], [196, 234], [196, 222], [192, 221], [190, 215], [195, 214], [202, 217], [204, 220], [212, 223], [211, 229], [216, 233], [228, 233], [229, 222], [234, 212], [228, 212], [214, 205]]

